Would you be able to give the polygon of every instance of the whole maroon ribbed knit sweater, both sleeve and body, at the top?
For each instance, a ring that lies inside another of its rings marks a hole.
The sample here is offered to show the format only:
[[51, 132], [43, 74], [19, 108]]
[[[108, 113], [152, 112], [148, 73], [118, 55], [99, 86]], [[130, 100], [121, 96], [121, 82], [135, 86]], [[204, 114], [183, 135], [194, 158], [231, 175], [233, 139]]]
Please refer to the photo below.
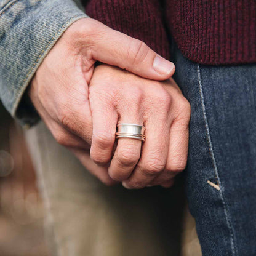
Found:
[[170, 33], [185, 57], [209, 65], [256, 62], [255, 0], [84, 0], [91, 18], [170, 58]]

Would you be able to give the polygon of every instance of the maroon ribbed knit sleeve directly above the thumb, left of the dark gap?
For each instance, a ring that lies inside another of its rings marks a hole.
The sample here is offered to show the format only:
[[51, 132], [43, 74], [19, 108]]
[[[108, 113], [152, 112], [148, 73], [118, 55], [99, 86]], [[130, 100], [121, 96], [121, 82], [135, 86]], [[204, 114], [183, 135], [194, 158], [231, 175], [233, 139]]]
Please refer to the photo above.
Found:
[[[170, 58], [159, 0], [89, 0], [86, 14], [114, 30], [145, 42], [162, 57]], [[126, 42], [124, 42], [125, 44]]]

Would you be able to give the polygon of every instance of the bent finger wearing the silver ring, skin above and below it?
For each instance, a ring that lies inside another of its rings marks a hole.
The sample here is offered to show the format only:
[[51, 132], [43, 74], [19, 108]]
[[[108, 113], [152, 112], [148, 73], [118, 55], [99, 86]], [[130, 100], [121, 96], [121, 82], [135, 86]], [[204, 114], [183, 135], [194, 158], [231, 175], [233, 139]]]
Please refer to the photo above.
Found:
[[[137, 104], [134, 104], [137, 106]], [[142, 121], [139, 121], [140, 115], [138, 110], [130, 110], [125, 112], [118, 123], [132, 123], [143, 125]], [[127, 116], [127, 113], [134, 113], [134, 116], [130, 114]], [[142, 120], [142, 119], [141, 119]], [[134, 138], [118, 138], [118, 145], [116, 151], [114, 152], [113, 159], [111, 160], [108, 173], [113, 180], [127, 180], [132, 170], [136, 166], [138, 160], [140, 159], [140, 150], [142, 146], [142, 141]]]

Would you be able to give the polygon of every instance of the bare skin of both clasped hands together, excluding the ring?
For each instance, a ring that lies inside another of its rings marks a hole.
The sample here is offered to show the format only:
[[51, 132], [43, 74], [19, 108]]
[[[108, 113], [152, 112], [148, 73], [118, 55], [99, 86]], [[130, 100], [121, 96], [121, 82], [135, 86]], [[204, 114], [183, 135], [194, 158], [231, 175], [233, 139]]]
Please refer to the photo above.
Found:
[[[186, 166], [190, 120], [174, 71], [143, 42], [86, 18], [50, 50], [28, 94], [57, 142], [106, 185], [169, 187]], [[145, 142], [115, 142], [120, 122], [146, 126]]]

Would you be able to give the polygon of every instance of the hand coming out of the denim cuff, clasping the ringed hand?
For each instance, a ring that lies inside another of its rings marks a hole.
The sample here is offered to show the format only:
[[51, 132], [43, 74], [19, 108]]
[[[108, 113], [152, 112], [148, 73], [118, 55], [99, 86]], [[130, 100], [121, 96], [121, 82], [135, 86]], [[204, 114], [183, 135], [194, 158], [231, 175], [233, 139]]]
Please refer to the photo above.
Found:
[[[149, 79], [167, 79], [175, 70], [137, 39], [90, 18], [74, 22], [44, 58], [28, 94], [57, 142], [82, 162], [81, 151], [89, 150], [92, 138], [88, 85], [96, 60]], [[95, 175], [113, 183], [105, 172]]]

